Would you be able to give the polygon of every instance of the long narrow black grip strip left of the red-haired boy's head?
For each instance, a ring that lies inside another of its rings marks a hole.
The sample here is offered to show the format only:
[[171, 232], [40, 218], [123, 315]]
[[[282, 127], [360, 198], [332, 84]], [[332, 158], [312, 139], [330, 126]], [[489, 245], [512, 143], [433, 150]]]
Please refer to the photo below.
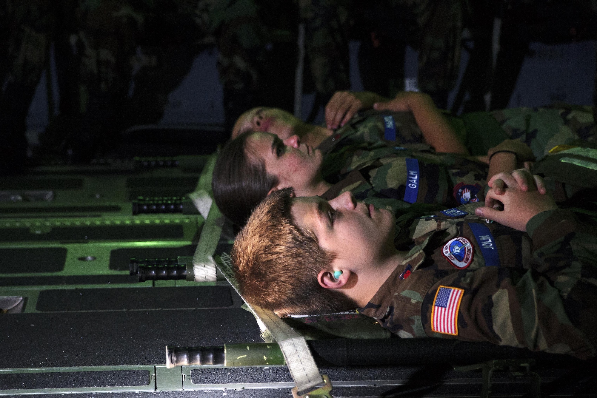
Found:
[[227, 286], [52, 289], [39, 292], [38, 311], [153, 310], [232, 306]]

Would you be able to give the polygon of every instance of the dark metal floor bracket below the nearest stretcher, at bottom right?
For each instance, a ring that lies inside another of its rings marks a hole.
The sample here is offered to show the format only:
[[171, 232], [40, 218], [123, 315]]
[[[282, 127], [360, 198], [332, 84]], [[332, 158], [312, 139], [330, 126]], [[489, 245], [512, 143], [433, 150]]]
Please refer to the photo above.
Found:
[[541, 398], [541, 377], [536, 372], [531, 372], [531, 366], [534, 365], [534, 359], [498, 359], [476, 363], [475, 365], [456, 366], [454, 370], [468, 372], [476, 369], [483, 369], [481, 398], [491, 397], [491, 377], [493, 377], [493, 373], [495, 371], [504, 371], [506, 369], [511, 377], [529, 377], [531, 383], [531, 397]]

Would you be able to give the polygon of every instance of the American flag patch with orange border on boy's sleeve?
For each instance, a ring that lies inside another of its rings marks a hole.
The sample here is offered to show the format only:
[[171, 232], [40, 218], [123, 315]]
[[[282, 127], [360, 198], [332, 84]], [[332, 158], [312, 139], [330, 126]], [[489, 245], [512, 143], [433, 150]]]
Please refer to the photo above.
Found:
[[431, 312], [432, 331], [458, 335], [458, 308], [463, 292], [463, 289], [439, 286]]

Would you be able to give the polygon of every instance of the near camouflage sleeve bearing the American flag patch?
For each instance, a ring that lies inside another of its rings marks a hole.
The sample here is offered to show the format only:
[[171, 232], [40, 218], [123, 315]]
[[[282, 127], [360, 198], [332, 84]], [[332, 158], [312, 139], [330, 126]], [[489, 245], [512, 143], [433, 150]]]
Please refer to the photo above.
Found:
[[527, 229], [534, 248], [521, 248], [522, 268], [461, 270], [429, 289], [421, 307], [427, 335], [595, 356], [595, 228], [558, 209]]

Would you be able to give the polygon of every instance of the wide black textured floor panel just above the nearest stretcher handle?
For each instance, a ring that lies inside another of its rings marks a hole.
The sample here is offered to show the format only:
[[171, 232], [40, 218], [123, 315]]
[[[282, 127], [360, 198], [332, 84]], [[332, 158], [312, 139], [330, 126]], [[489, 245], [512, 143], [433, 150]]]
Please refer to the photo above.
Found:
[[154, 365], [166, 345], [259, 343], [242, 308], [24, 313], [2, 316], [1, 368]]

